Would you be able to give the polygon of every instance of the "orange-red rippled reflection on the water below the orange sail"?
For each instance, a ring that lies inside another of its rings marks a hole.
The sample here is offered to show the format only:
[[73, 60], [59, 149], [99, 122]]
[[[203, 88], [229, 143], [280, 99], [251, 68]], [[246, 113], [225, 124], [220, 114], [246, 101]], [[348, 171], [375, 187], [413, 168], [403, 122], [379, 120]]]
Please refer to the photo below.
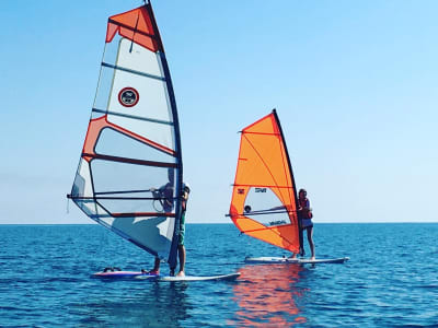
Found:
[[296, 286], [300, 272], [297, 265], [247, 265], [239, 269], [240, 283], [233, 288], [239, 305], [231, 325], [250, 327], [284, 327], [303, 324], [297, 300], [304, 292]]

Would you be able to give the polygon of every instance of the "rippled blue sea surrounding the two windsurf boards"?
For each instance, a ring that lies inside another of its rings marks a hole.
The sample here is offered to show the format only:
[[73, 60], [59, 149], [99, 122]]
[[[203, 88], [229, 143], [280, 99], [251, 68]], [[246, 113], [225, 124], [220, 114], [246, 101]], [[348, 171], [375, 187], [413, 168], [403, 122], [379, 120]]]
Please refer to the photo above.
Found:
[[438, 327], [438, 224], [316, 223], [313, 237], [318, 258], [350, 260], [247, 265], [288, 254], [187, 224], [186, 273], [237, 281], [107, 281], [91, 274], [153, 257], [100, 225], [0, 225], [0, 327]]

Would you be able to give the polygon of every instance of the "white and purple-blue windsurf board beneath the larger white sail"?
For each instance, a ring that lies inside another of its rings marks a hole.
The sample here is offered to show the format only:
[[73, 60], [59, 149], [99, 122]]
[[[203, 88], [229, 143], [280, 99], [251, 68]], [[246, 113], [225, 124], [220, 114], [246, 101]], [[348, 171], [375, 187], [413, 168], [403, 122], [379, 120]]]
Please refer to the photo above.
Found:
[[149, 274], [141, 271], [101, 271], [93, 274], [95, 278], [104, 279], [138, 279], [153, 281], [208, 281], [208, 280], [235, 280], [240, 272], [219, 276], [185, 276], [185, 277], [169, 277], [160, 274]]

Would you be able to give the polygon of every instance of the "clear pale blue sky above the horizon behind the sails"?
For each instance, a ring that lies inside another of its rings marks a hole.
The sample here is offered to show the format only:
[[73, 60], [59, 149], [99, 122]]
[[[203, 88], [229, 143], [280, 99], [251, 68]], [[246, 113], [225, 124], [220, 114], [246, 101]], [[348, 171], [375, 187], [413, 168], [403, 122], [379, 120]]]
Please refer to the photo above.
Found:
[[[2, 1], [0, 223], [66, 213], [110, 15]], [[438, 1], [152, 2], [180, 114], [187, 222], [229, 219], [237, 133], [276, 107], [315, 222], [438, 222]]]

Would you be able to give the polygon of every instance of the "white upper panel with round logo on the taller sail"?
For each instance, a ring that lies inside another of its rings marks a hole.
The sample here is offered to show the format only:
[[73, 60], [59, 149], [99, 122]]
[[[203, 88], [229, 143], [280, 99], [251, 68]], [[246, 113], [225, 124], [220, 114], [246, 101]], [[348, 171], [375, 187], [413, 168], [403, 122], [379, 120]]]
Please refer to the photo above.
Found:
[[123, 38], [113, 68], [107, 120], [175, 150], [172, 107], [161, 67], [158, 54]]

